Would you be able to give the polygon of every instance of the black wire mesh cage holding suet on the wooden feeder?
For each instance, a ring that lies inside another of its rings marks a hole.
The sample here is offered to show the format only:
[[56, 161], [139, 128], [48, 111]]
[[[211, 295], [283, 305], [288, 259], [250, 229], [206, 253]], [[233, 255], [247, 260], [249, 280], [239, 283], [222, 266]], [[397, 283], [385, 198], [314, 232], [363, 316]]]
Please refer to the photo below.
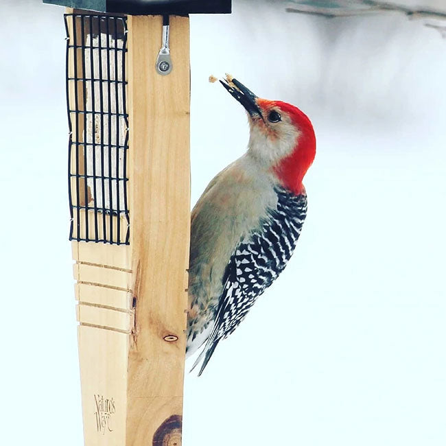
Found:
[[64, 14], [70, 239], [128, 244], [126, 16]]

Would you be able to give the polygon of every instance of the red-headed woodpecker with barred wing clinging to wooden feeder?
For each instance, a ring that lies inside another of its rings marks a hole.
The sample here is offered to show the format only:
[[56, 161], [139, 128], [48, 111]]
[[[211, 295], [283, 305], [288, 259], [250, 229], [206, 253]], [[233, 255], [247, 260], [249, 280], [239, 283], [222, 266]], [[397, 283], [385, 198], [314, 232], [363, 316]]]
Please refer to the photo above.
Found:
[[307, 213], [303, 176], [316, 153], [298, 108], [220, 81], [248, 112], [247, 152], [215, 176], [192, 211], [187, 355], [204, 367], [290, 259]]

